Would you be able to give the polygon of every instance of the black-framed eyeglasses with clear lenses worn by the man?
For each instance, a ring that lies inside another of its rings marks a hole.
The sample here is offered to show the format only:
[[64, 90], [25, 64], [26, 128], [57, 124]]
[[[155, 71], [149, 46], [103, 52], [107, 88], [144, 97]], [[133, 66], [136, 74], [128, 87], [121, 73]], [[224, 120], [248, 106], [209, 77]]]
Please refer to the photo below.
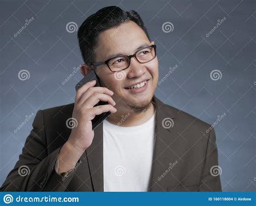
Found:
[[139, 63], [147, 63], [154, 58], [156, 58], [157, 52], [156, 52], [156, 45], [150, 45], [147, 46], [143, 49], [138, 50], [136, 53], [126, 56], [118, 56], [118, 57], [113, 57], [111, 59], [108, 59], [106, 61], [101, 61], [101, 62], [95, 62], [95, 63], [90, 63], [89, 65], [92, 66], [99, 66], [106, 64], [111, 72], [117, 72], [121, 70], [125, 70], [130, 66], [131, 63], [131, 58], [134, 57], [139, 61]]

